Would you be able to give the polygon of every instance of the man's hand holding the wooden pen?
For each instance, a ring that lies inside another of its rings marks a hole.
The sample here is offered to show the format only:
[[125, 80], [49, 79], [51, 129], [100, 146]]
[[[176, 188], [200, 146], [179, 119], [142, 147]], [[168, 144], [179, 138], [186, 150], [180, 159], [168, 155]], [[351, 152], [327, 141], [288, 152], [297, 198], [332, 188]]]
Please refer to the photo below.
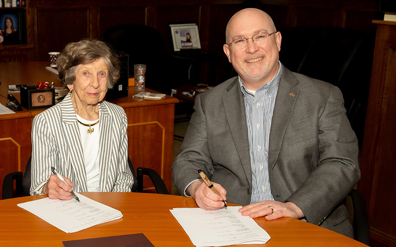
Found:
[[187, 193], [195, 199], [197, 205], [202, 209], [219, 209], [220, 207], [224, 206], [223, 200], [224, 202], [227, 200], [227, 191], [218, 183], [212, 182], [212, 184], [220, 196], [207, 187], [207, 185], [202, 180], [195, 181], [187, 188]]

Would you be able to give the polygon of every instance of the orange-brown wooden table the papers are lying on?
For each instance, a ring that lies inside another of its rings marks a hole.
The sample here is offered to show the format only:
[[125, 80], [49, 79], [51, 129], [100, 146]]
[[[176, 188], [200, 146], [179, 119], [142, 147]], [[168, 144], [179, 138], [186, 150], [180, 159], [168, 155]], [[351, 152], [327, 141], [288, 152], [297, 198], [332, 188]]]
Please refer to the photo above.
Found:
[[[120, 210], [124, 216], [121, 219], [76, 233], [65, 233], [16, 206], [18, 203], [46, 196], [1, 200], [0, 246], [62, 247], [62, 241], [143, 233], [155, 247], [194, 247], [190, 238], [169, 211], [174, 207], [197, 207], [192, 198], [122, 192], [86, 192], [81, 194]], [[267, 231], [271, 239], [265, 245], [243, 246], [366, 246], [344, 235], [293, 218], [266, 221], [261, 217], [255, 221]]]

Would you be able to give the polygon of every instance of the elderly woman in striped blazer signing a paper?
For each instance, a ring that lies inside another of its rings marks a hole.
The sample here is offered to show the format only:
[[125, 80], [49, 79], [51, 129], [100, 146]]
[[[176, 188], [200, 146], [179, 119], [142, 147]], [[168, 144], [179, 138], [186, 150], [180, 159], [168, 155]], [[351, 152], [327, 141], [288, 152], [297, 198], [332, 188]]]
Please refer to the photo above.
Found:
[[30, 194], [70, 200], [71, 190], [130, 192], [127, 117], [103, 101], [119, 78], [118, 59], [104, 42], [83, 40], [66, 45], [56, 63], [70, 92], [33, 120]]

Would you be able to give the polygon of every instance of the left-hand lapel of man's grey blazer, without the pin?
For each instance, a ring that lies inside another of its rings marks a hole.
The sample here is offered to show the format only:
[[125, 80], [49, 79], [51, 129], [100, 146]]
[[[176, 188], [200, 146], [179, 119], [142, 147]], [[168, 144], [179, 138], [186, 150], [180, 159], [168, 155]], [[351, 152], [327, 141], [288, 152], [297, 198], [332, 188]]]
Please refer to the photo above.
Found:
[[231, 82], [223, 94], [224, 110], [231, 134], [241, 159], [242, 167], [245, 171], [247, 181], [251, 186], [251, 166], [249, 154], [249, 140], [247, 137], [247, 124], [244, 96], [239, 86], [238, 77]]

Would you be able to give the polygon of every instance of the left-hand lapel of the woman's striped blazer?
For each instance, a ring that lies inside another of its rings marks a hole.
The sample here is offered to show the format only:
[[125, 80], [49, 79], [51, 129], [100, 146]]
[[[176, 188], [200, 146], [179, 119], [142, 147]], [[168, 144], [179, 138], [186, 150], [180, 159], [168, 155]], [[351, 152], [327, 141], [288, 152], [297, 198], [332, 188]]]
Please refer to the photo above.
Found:
[[[68, 147], [68, 157], [70, 166], [74, 172], [69, 172], [70, 176], [75, 174], [75, 180], [81, 191], [87, 191], [87, 177], [85, 172], [84, 153], [81, 144], [80, 131], [77, 125], [77, 117], [71, 102], [70, 93], [61, 102], [62, 123], [64, 126], [64, 136]], [[66, 164], [66, 167], [68, 164]], [[70, 177], [71, 178], [71, 177]], [[72, 179], [72, 178], [71, 178]]]

